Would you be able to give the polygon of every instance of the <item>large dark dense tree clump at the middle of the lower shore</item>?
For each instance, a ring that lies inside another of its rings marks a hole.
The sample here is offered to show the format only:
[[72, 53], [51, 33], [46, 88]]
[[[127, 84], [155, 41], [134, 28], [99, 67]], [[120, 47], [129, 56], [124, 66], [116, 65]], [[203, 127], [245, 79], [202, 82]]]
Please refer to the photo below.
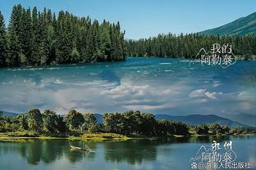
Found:
[[184, 123], [156, 121], [153, 114], [141, 114], [139, 111], [132, 110], [123, 114], [104, 114], [103, 127], [105, 132], [135, 136], [171, 136], [189, 133]]

